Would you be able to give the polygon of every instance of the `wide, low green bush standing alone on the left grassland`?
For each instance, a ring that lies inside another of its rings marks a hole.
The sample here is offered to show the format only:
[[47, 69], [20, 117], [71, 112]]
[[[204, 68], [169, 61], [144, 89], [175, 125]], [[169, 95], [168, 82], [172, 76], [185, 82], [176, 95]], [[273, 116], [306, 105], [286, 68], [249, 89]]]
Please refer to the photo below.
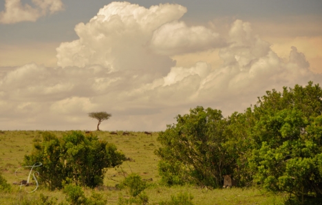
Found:
[[54, 189], [63, 188], [64, 182], [89, 187], [103, 184], [106, 169], [122, 164], [122, 160], [125, 155], [114, 144], [98, 140], [97, 136], [73, 131], [57, 138], [44, 132], [43, 141], [34, 144], [31, 155], [25, 155], [24, 164], [41, 162], [43, 165], [35, 168], [39, 182]]

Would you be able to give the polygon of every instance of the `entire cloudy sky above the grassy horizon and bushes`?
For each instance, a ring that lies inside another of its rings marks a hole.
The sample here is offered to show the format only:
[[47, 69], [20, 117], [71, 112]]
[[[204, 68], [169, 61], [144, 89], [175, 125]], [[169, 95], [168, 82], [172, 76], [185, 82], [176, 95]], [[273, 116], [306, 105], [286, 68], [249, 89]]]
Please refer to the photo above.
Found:
[[2, 0], [0, 130], [162, 131], [322, 85], [320, 0]]

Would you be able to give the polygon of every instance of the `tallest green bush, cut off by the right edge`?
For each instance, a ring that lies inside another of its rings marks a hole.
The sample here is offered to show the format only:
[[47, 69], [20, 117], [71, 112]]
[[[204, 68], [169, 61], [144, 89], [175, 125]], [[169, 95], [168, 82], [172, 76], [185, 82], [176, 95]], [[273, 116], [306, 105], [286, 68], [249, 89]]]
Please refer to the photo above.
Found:
[[255, 182], [300, 204], [322, 197], [321, 114], [322, 89], [312, 82], [259, 98], [251, 133], [257, 146], [248, 160]]

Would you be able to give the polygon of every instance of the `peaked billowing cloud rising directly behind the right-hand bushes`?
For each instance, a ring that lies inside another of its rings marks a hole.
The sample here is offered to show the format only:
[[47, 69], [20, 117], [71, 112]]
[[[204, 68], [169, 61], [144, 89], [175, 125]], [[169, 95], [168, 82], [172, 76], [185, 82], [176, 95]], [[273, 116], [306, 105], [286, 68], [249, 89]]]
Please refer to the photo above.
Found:
[[222, 107], [226, 114], [243, 111], [266, 90], [305, 85], [309, 80], [321, 83], [321, 75], [310, 72], [303, 54], [292, 47], [289, 61], [284, 62], [272, 52], [269, 43], [253, 34], [250, 23], [235, 21], [228, 41], [230, 45], [219, 52], [224, 65], [202, 80], [198, 95], [203, 102]]

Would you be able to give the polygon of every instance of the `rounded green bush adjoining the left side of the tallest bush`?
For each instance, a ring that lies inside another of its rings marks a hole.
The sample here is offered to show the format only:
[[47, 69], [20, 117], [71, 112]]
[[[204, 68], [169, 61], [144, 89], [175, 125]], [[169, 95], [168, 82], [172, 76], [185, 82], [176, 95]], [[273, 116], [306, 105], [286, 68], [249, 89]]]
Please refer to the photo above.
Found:
[[169, 185], [197, 183], [220, 187], [222, 175], [233, 172], [235, 158], [225, 147], [227, 121], [217, 109], [196, 107], [176, 117], [177, 124], [159, 133], [155, 154], [162, 181]]

